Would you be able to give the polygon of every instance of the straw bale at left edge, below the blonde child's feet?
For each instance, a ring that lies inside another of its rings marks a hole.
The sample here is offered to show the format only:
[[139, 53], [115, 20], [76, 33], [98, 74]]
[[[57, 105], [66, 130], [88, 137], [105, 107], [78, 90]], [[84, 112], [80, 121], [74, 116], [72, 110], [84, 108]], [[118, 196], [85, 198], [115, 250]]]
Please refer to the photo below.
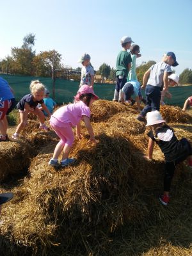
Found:
[[31, 157], [35, 156], [33, 145], [26, 140], [1, 142], [0, 152], [0, 180], [26, 173]]

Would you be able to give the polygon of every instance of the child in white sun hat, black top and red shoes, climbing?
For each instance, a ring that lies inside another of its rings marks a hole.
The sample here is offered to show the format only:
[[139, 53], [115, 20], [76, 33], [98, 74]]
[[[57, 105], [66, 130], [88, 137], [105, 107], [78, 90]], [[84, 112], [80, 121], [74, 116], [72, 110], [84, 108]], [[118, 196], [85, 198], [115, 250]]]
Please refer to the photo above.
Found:
[[150, 132], [147, 134], [149, 137], [147, 159], [152, 159], [154, 142], [156, 142], [165, 158], [164, 193], [159, 196], [159, 200], [161, 204], [168, 205], [175, 166], [188, 158], [189, 167], [192, 168], [192, 148], [186, 138], [177, 140], [173, 129], [164, 124], [165, 122], [159, 111], [147, 113], [146, 126], [150, 126]]

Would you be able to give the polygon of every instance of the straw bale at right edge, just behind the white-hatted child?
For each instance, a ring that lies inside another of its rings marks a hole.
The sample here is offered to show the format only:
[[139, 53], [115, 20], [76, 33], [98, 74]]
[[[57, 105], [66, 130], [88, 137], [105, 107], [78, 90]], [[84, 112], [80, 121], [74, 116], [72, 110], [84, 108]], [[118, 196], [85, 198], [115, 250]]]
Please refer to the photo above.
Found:
[[190, 116], [188, 113], [182, 111], [179, 107], [174, 106], [161, 106], [160, 113], [163, 116], [164, 120], [166, 122], [175, 122], [175, 123], [191, 123], [192, 122], [192, 116]]

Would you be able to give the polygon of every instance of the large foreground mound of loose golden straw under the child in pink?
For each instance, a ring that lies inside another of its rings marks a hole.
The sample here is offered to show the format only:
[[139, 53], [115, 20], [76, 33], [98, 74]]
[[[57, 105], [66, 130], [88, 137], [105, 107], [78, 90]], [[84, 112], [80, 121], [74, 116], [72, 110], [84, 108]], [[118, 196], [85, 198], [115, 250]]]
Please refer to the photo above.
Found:
[[[4, 209], [1, 226], [1, 236], [9, 240], [3, 240], [5, 248], [6, 243], [11, 249], [19, 244], [15, 252], [23, 249], [26, 255], [141, 255], [143, 250], [148, 251], [146, 256], [156, 255], [156, 250], [149, 254], [148, 248], [161, 238], [156, 226], [167, 227], [174, 221], [179, 216], [178, 204], [191, 211], [191, 181], [186, 179], [185, 164], [177, 166], [173, 180], [173, 198], [180, 195], [179, 202], [173, 200], [166, 211], [157, 201], [163, 184], [163, 156], [156, 147], [153, 161], [143, 157], [148, 138], [145, 126], [135, 118], [136, 111], [116, 102], [100, 102], [112, 110], [93, 111], [97, 145], [88, 143], [83, 127], [84, 137], [75, 141], [70, 153], [76, 163], [55, 169], [47, 165], [58, 141], [52, 138], [31, 161], [28, 177], [12, 189], [15, 198]], [[115, 108], [122, 111], [115, 113]], [[191, 127], [184, 128], [185, 135], [191, 134]], [[119, 230], [127, 237], [124, 245], [115, 237]], [[146, 237], [150, 241], [141, 242]]]

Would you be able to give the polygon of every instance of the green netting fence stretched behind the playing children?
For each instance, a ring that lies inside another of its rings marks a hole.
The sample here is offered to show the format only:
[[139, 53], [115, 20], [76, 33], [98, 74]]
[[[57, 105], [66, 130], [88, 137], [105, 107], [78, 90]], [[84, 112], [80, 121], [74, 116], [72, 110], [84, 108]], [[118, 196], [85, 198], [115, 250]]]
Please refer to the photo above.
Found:
[[[15, 99], [19, 100], [29, 93], [29, 84], [32, 80], [40, 80], [50, 92], [52, 97], [52, 79], [50, 77], [33, 77], [33, 76], [12, 76], [1, 74], [6, 79], [15, 92]], [[55, 81], [55, 100], [58, 104], [63, 102], [72, 102], [79, 88], [79, 82], [57, 78]], [[95, 93], [100, 99], [112, 100], [115, 90], [115, 84], [94, 84]], [[142, 92], [145, 95], [145, 92]], [[170, 88], [172, 99], [165, 99], [166, 104], [182, 107], [184, 101], [192, 95], [192, 85], [177, 86]]]

